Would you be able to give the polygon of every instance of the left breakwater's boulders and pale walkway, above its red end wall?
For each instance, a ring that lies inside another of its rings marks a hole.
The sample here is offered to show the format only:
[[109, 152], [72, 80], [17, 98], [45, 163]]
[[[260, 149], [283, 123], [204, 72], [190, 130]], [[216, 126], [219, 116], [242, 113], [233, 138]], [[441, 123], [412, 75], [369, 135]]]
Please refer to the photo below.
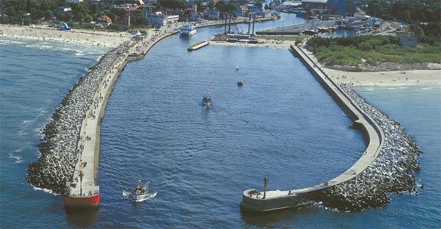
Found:
[[[39, 158], [29, 164], [26, 179], [30, 184], [54, 193], [99, 198], [99, 122], [133, 45], [125, 41], [104, 54], [61, 101], [42, 130]], [[76, 193], [76, 181], [81, 179], [84, 187]]]

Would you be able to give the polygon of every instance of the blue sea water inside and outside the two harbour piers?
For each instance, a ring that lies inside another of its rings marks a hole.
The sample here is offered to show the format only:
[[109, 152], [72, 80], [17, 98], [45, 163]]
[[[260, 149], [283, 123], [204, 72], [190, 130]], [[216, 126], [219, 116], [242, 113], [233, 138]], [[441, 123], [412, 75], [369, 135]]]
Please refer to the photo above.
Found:
[[[145, 59], [127, 65], [101, 124], [101, 206], [74, 215], [65, 214], [61, 196], [34, 190], [24, 177], [28, 163], [37, 159], [39, 130], [105, 50], [0, 46], [0, 227], [440, 226], [441, 89], [433, 87], [357, 88], [422, 148], [417, 177], [424, 188], [418, 195], [393, 195], [385, 208], [363, 212], [317, 205], [242, 216], [243, 190], [261, 190], [263, 176], [269, 176], [269, 189], [282, 190], [331, 179], [356, 161], [364, 142], [288, 50], [210, 45], [187, 52], [189, 43], [222, 31], [204, 28], [190, 39], [168, 37]], [[203, 109], [208, 89], [214, 104]], [[138, 177], [150, 181], [158, 195], [133, 204], [123, 191]]]

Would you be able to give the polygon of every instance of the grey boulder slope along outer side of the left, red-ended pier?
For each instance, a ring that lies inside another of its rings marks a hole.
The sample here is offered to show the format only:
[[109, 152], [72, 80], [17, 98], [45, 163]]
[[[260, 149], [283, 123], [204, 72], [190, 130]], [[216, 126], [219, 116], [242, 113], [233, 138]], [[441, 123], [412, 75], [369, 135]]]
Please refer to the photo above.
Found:
[[86, 73], [70, 89], [55, 110], [49, 123], [43, 128], [37, 161], [29, 164], [26, 180], [37, 188], [55, 193], [65, 193], [66, 182], [72, 179], [81, 146], [81, 123], [94, 103], [93, 97], [101, 81], [117, 61], [122, 61], [134, 43], [125, 41], [107, 52], [90, 66]]

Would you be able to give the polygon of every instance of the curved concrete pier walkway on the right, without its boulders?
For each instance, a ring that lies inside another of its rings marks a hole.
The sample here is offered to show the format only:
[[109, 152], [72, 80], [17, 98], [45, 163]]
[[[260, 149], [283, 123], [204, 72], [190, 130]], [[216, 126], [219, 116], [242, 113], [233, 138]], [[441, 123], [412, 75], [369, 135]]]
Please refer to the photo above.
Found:
[[345, 181], [349, 181], [360, 175], [380, 154], [384, 144], [384, 133], [382, 128], [373, 121], [369, 115], [366, 115], [358, 105], [341, 88], [330, 79], [326, 72], [320, 68], [318, 63], [311, 59], [302, 48], [291, 45], [289, 50], [305, 64], [305, 66], [314, 74], [314, 77], [322, 84], [327, 92], [333, 97], [338, 105], [347, 112], [353, 120], [356, 128], [360, 129], [367, 148], [356, 163], [338, 177], [325, 181], [316, 186], [302, 188], [298, 190], [271, 190], [258, 192], [255, 189], [245, 190], [241, 208], [251, 212], [267, 212], [271, 210], [280, 210], [285, 208], [296, 208], [308, 203], [320, 196], [320, 192], [326, 188], [336, 186]]

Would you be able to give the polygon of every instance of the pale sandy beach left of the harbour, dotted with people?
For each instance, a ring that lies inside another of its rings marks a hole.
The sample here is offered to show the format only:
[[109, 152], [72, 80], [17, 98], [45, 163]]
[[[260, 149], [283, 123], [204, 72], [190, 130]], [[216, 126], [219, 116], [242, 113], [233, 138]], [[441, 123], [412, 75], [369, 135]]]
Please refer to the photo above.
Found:
[[57, 41], [78, 43], [88, 46], [116, 48], [124, 41], [130, 40], [132, 34], [127, 32], [104, 32], [94, 30], [72, 29], [57, 30], [48, 26], [10, 26], [0, 25], [0, 37], [17, 40]]

